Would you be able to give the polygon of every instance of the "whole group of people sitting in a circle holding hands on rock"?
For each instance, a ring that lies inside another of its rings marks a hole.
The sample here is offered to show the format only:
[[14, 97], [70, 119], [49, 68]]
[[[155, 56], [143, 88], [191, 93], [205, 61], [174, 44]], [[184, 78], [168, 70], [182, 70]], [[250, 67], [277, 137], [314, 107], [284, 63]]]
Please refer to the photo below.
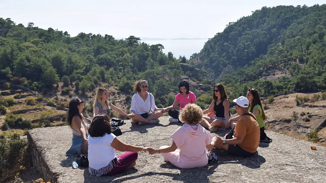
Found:
[[[99, 88], [90, 124], [82, 115], [83, 101], [72, 98], [66, 119], [73, 137], [66, 155], [88, 154], [91, 175], [112, 176], [134, 167], [139, 151], [148, 151], [149, 154], [160, 153], [164, 161], [179, 168], [206, 166], [208, 164], [206, 149], [239, 157], [249, 157], [256, 153], [260, 131], [264, 130], [266, 119], [256, 89], [250, 88], [246, 97], [241, 96], [233, 100], [238, 114], [234, 118], [230, 118], [230, 102], [221, 84], [213, 87], [213, 101], [204, 111], [196, 104], [196, 96], [189, 91], [189, 83], [185, 80], [179, 84], [179, 93], [174, 103], [167, 108], [157, 108], [154, 96], [147, 92], [147, 89], [148, 83], [145, 80], [135, 83], [136, 94], [131, 99], [130, 114], [126, 114], [109, 101], [107, 89]], [[180, 110], [177, 111], [179, 103]], [[111, 110], [131, 118], [132, 123], [138, 125], [157, 124], [158, 118], [165, 112], [171, 116], [170, 123], [184, 124], [170, 136], [172, 138], [170, 146], [139, 147], [121, 141], [112, 133], [109, 117]], [[225, 137], [212, 137], [209, 132], [228, 128], [232, 129], [232, 134]], [[125, 153], [117, 156], [115, 150]]]

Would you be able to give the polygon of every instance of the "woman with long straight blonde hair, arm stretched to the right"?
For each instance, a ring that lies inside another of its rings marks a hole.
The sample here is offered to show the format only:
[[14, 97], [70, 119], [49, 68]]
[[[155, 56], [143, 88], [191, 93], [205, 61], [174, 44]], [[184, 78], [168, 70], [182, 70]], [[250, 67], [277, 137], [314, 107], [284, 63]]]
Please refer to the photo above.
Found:
[[127, 118], [135, 117], [135, 114], [126, 114], [124, 111], [111, 104], [109, 101], [109, 92], [106, 88], [98, 88], [94, 101], [93, 117], [98, 114], [106, 114], [110, 116], [111, 109]]

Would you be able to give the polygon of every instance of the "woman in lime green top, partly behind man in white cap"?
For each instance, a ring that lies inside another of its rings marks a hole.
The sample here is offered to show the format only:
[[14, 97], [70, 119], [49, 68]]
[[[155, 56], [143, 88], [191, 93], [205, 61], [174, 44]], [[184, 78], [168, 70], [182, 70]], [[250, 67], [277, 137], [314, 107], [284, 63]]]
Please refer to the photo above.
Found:
[[[257, 122], [259, 124], [260, 131], [264, 131], [265, 126], [265, 120], [266, 115], [264, 112], [264, 108], [262, 107], [261, 101], [260, 101], [260, 95], [258, 91], [254, 88], [249, 88], [246, 98], [249, 100], [249, 108], [248, 111], [253, 113], [257, 119]], [[251, 108], [253, 106], [253, 108]], [[232, 128], [234, 128], [235, 124], [239, 120], [240, 116], [236, 116], [234, 118], [231, 118], [229, 120], [229, 123], [231, 123]]]

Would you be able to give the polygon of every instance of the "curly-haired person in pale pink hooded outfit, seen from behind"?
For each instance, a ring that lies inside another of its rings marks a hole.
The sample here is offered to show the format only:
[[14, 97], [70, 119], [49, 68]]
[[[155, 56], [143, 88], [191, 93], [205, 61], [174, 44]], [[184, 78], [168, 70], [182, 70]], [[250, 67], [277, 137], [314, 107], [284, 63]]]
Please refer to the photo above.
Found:
[[[179, 168], [206, 166], [208, 158], [205, 149], [213, 150], [216, 138], [211, 141], [211, 134], [199, 124], [202, 115], [199, 106], [187, 104], [179, 115], [179, 119], [184, 125], [171, 135], [172, 145], [150, 150], [149, 154], [161, 153], [164, 161]], [[180, 150], [177, 150], [178, 147]]]

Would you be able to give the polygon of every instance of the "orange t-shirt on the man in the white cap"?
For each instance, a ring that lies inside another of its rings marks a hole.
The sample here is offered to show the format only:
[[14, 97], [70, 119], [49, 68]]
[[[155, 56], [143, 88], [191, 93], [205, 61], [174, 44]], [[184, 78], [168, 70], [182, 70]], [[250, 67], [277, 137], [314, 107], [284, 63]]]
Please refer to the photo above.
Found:
[[[252, 114], [251, 112], [249, 113]], [[235, 125], [234, 137], [244, 137], [242, 143], [238, 145], [248, 152], [256, 152], [260, 140], [259, 124], [251, 116], [241, 116]]]

